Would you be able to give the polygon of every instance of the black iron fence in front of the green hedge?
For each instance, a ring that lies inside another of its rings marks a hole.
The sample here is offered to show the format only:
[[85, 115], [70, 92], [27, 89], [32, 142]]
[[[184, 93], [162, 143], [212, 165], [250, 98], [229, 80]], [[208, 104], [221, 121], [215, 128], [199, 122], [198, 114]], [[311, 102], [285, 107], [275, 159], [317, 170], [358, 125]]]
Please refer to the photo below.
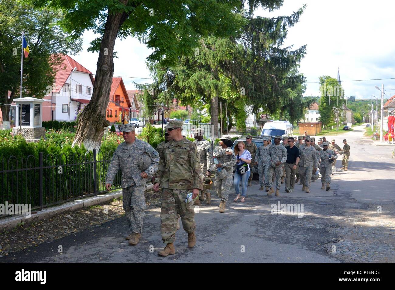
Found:
[[[32, 204], [42, 210], [81, 197], [106, 192], [105, 176], [113, 152], [3, 158], [0, 163], [0, 204]], [[112, 189], [120, 188], [117, 173]]]

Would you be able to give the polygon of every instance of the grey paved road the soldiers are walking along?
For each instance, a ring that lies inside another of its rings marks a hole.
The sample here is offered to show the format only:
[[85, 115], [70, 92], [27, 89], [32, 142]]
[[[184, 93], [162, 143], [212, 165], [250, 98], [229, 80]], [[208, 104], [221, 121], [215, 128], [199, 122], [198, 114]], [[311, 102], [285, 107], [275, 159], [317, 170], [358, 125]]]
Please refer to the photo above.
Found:
[[[309, 194], [301, 191], [301, 185], [286, 193], [282, 185], [281, 196], [268, 197], [258, 191], [255, 181], [248, 187], [246, 202], [229, 201], [225, 213], [218, 212], [218, 198], [211, 206], [200, 206], [193, 249], [181, 228], [176, 254], [159, 257], [157, 251], [164, 246], [159, 209], [152, 209], [146, 212], [137, 246], [124, 239], [129, 233], [122, 217], [11, 253], [0, 262], [394, 262], [395, 159], [392, 149], [372, 145], [363, 132], [358, 126], [335, 137], [341, 147], [347, 138], [351, 156], [349, 170], [337, 171], [328, 192], [317, 180]], [[229, 200], [234, 195], [233, 191]], [[303, 205], [303, 217], [271, 214], [271, 205], [278, 202]]]

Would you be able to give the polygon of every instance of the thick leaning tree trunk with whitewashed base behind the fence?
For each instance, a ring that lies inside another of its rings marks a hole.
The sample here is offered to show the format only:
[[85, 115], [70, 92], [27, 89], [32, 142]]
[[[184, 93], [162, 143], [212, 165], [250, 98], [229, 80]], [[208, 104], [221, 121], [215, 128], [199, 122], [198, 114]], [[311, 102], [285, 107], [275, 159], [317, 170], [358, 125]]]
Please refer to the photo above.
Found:
[[[120, 0], [126, 4], [128, 0]], [[92, 98], [83, 110], [77, 125], [73, 146], [82, 144], [87, 150], [98, 150], [102, 142], [104, 127], [109, 125], [105, 112], [110, 97], [114, 75], [113, 51], [115, 40], [122, 23], [128, 18], [126, 13], [108, 12], [102, 43], [97, 62]]]

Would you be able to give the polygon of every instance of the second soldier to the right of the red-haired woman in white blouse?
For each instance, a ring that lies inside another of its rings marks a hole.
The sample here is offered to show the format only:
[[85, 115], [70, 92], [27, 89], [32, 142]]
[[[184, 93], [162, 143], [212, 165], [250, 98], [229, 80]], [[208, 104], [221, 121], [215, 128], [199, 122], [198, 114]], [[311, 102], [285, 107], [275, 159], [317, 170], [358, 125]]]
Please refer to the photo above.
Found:
[[263, 145], [258, 147], [255, 155], [255, 164], [258, 164], [258, 174], [259, 174], [259, 185], [261, 186], [259, 190], [263, 190], [265, 186], [265, 191], [269, 191], [269, 167], [270, 167], [270, 144], [271, 137], [263, 137]]

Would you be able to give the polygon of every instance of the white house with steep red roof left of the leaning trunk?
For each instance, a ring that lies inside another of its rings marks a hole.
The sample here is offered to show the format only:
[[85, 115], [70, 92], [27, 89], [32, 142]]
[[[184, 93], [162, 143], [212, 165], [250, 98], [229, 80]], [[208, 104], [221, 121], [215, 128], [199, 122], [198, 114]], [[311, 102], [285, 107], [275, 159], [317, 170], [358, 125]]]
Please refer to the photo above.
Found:
[[60, 57], [62, 64], [55, 68], [55, 83], [53, 88], [48, 86], [50, 95], [44, 97], [47, 101], [43, 103], [43, 121], [68, 121], [70, 98], [70, 122], [75, 121], [77, 113], [92, 97], [92, 73], [70, 56], [60, 54]]

